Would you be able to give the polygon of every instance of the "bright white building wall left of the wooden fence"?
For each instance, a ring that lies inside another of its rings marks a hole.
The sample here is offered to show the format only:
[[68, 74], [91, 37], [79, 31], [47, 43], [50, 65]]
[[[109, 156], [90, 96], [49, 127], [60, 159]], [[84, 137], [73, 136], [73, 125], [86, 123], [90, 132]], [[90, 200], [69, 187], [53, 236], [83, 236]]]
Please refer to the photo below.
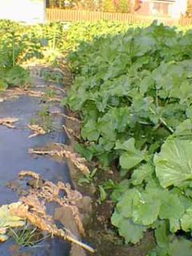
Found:
[[0, 18], [28, 24], [45, 21], [44, 0], [0, 0]]

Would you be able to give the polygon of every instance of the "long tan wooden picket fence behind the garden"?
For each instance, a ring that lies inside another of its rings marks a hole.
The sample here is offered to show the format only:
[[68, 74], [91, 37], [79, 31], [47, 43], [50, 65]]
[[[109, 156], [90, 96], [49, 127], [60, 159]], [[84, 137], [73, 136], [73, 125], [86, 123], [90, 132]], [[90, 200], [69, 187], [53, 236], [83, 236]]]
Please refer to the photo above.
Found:
[[89, 11], [89, 10], [61, 10], [61, 9], [46, 9], [46, 21], [47, 22], [80, 22], [89, 21], [94, 22], [97, 20], [110, 20], [126, 23], [151, 23], [155, 19], [159, 22], [163, 22], [166, 25], [192, 25], [192, 18], [165, 18], [154, 17], [138, 14], [120, 14], [120, 13], [107, 13], [101, 11]]

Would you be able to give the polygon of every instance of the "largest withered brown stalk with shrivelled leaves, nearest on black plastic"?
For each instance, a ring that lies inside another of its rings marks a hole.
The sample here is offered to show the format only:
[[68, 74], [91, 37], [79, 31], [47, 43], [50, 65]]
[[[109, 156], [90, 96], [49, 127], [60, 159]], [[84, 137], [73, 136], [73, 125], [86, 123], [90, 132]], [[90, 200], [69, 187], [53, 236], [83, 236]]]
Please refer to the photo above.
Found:
[[[22, 170], [19, 173], [20, 178], [30, 176], [32, 178], [39, 179], [39, 175], [28, 170]], [[59, 193], [63, 190], [64, 197], [60, 197]], [[94, 253], [94, 249], [86, 244], [78, 241], [69, 230], [58, 229], [54, 224], [54, 219], [50, 215], [46, 214], [46, 202], [57, 202], [60, 206], [70, 207], [74, 219], [77, 223], [80, 232], [84, 232], [78, 207], [76, 206], [78, 200], [82, 198], [77, 190], [71, 190], [70, 184], [64, 184], [58, 182], [54, 184], [52, 182], [44, 182], [38, 189], [30, 189], [29, 194], [25, 197], [19, 198], [17, 207], [15, 204], [10, 204], [10, 214], [22, 219], [27, 219], [32, 225], [38, 227], [39, 230], [46, 231], [52, 236], [58, 236], [69, 242], [74, 242], [78, 246], [82, 246], [85, 250], [89, 250]]]

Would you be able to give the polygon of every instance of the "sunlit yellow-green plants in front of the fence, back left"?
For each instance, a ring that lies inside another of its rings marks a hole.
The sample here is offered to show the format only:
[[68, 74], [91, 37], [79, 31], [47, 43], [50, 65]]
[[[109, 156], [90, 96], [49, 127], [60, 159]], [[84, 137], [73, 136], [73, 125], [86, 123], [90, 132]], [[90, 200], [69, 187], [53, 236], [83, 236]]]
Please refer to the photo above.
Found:
[[7, 20], [0, 21], [0, 89], [8, 86], [29, 86], [30, 76], [24, 64], [42, 58], [50, 66], [58, 66], [68, 50], [82, 40], [119, 33], [128, 26], [114, 22], [54, 22], [26, 26]]

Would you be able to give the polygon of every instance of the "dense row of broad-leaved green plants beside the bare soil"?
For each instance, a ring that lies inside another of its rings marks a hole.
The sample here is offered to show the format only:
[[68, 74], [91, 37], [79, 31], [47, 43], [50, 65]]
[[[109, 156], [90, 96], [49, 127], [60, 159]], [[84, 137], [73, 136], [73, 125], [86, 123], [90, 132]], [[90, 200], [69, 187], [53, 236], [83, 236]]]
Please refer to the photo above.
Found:
[[111, 223], [126, 243], [153, 230], [150, 256], [190, 255], [192, 31], [133, 27], [82, 42], [68, 60], [63, 103], [82, 118], [78, 151], [119, 171]]

